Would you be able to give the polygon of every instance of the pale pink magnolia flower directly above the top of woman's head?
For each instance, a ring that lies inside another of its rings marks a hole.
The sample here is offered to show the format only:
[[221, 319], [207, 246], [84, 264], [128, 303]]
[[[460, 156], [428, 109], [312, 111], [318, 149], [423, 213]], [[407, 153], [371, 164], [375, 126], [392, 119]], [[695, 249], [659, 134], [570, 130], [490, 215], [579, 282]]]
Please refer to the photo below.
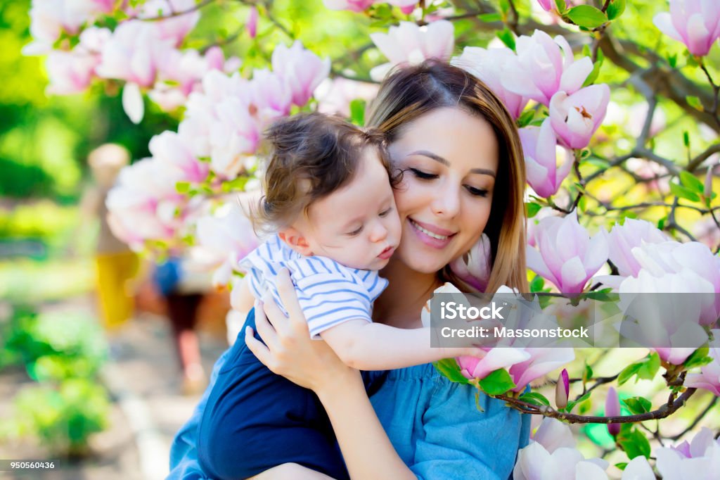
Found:
[[415, 65], [428, 58], [446, 61], [455, 45], [454, 27], [447, 20], [438, 20], [418, 27], [413, 22], [400, 22], [387, 33], [371, 33], [370, 38], [383, 55], [390, 60], [370, 71], [375, 81], [381, 81], [395, 65]]

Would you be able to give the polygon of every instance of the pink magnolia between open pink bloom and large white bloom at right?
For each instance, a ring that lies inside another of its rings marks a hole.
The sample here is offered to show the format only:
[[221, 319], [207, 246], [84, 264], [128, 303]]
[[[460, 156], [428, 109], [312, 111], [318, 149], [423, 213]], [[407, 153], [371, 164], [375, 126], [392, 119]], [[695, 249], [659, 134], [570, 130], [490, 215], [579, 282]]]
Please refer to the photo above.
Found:
[[640, 271], [640, 264], [632, 254], [632, 249], [642, 242], [659, 244], [668, 240], [670, 238], [649, 221], [626, 218], [623, 225], [616, 223], [608, 234], [610, 260], [618, 267], [620, 275], [634, 277]]

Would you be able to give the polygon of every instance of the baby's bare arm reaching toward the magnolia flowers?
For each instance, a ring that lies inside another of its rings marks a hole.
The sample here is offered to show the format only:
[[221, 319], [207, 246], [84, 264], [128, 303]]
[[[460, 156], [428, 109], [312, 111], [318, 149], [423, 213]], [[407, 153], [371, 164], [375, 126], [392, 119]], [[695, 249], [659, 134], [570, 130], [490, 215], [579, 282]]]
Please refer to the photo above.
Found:
[[320, 333], [348, 367], [393, 370], [444, 358], [477, 355], [475, 347], [431, 347], [431, 329], [398, 329], [357, 319]]

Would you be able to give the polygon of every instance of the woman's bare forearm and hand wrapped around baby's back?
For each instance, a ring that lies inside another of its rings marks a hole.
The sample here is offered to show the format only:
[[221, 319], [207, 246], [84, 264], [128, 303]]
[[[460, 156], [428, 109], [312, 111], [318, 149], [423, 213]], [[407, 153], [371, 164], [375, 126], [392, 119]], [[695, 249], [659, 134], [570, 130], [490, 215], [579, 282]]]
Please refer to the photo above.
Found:
[[267, 346], [247, 329], [248, 348], [274, 373], [318, 394], [353, 480], [416, 479], [380, 425], [358, 370], [343, 364], [325, 342], [310, 339], [287, 271], [279, 272], [277, 287], [289, 319], [273, 301], [264, 304], [271, 321], [256, 308], [256, 328]]

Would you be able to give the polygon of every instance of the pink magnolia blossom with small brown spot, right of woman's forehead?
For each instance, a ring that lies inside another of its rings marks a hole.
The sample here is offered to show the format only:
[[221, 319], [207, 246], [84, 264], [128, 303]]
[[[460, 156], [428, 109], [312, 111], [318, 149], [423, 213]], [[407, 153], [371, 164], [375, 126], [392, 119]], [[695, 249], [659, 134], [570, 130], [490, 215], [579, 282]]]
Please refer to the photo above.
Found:
[[610, 101], [610, 87], [590, 85], [568, 95], [557, 92], [550, 99], [550, 121], [557, 137], [570, 148], [585, 148], [603, 123]]

